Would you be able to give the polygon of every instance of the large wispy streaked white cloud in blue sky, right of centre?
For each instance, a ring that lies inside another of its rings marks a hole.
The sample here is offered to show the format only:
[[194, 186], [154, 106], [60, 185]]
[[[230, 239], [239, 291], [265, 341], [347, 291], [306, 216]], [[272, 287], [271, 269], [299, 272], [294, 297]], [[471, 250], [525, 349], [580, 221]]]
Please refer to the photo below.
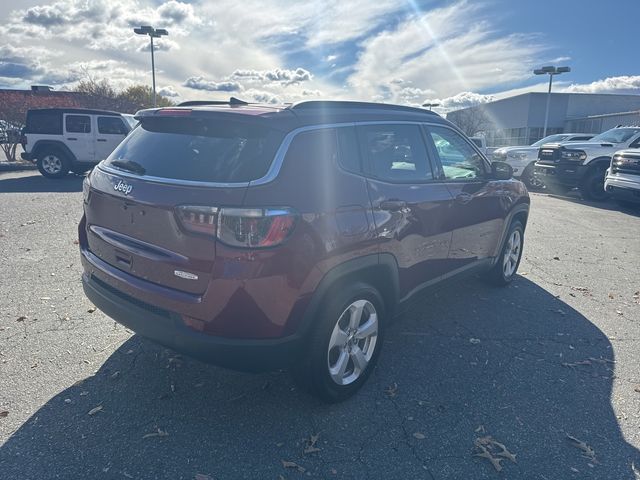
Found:
[[400, 78], [447, 96], [520, 81], [541, 50], [530, 38], [496, 34], [480, 4], [467, 1], [412, 14], [361, 48], [348, 84], [365, 98], [385, 96]]

